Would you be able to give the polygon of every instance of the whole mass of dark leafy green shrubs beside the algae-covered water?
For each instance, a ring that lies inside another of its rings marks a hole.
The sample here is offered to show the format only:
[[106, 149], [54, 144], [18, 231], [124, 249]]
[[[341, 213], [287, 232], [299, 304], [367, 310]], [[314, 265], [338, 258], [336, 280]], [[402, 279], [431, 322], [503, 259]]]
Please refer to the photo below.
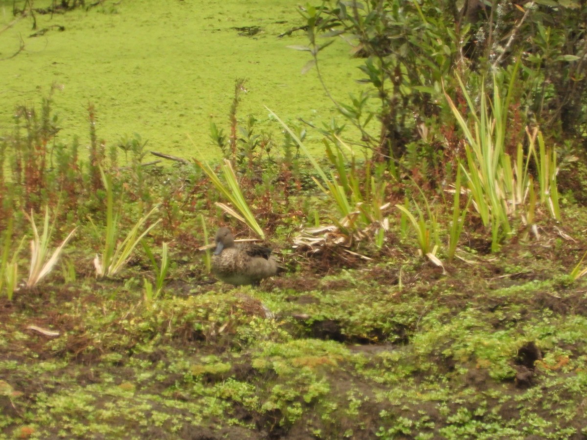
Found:
[[[374, 158], [393, 160], [414, 178], [438, 184], [454, 175], [448, 165], [462, 152], [443, 89], [457, 107], [464, 104], [456, 75], [467, 78], [469, 93], [483, 88], [487, 72], [515, 82], [508, 144], [522, 140], [527, 121], [558, 126], [565, 137], [585, 131], [584, 2], [465, 0], [458, 9], [448, 0], [330, 0], [301, 12], [309, 44], [292, 47], [311, 54], [303, 70], [315, 66], [325, 84], [321, 52], [342, 36], [364, 59], [367, 87], [336, 106]], [[512, 68], [518, 62], [521, 69]]]

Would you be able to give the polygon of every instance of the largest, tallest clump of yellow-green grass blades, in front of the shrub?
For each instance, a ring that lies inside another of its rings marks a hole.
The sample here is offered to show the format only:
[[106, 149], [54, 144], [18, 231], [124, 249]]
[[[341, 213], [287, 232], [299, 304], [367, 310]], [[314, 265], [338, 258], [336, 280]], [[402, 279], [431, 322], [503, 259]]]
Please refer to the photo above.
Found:
[[[519, 65], [515, 66], [514, 73], [518, 67]], [[532, 159], [538, 171], [540, 201], [548, 205], [555, 219], [560, 218], [555, 177], [556, 155], [544, 147], [544, 140], [538, 129], [532, 132], [527, 129], [529, 146], [525, 159], [521, 144], [518, 145], [515, 157], [506, 153], [508, 106], [513, 96], [515, 75], [510, 78], [505, 99], [501, 97], [500, 81], [496, 76], [493, 78], [491, 99], [486, 97], [485, 90], [481, 87], [479, 109], [471, 100], [463, 81], [458, 78], [458, 82], [469, 106], [469, 121], [465, 120], [448, 94], [446, 99], [467, 140], [467, 159], [465, 163], [461, 163], [460, 168], [470, 191], [473, 207], [483, 225], [491, 228], [491, 248], [496, 251], [501, 239], [512, 233], [512, 216], [518, 215], [524, 220], [524, 216], [528, 214], [533, 219], [534, 207], [526, 206], [534, 203], [528, 200], [533, 184], [529, 172]], [[456, 225], [454, 217], [453, 224]], [[452, 253], [451, 249], [449, 244], [449, 253]]]

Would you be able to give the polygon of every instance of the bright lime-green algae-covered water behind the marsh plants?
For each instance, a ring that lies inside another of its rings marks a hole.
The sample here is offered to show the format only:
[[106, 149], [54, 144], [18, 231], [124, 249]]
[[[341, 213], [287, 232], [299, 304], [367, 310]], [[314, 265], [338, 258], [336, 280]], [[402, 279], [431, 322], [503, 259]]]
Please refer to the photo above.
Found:
[[[247, 79], [248, 90], [239, 119], [254, 114], [276, 138], [281, 128], [264, 106], [294, 123], [302, 117], [321, 126], [336, 116], [316, 73], [301, 73], [308, 52], [286, 47], [306, 44], [305, 34], [278, 38], [302, 24], [296, 0], [107, 0], [87, 10], [37, 13], [36, 30], [30, 17], [15, 19], [12, 3], [0, 1], [0, 133], [12, 130], [15, 106], [39, 107], [53, 83], [62, 87], [53, 96], [62, 142], [89, 142], [86, 109], [93, 103], [107, 145], [138, 133], [151, 150], [187, 158], [195, 155], [188, 135], [205, 154], [220, 155], [210, 121], [228, 128], [237, 77]], [[239, 35], [235, 28], [245, 26], [261, 32]], [[48, 30], [31, 36], [40, 29]], [[23, 50], [12, 56], [21, 39]], [[332, 93], [344, 100], [358, 92], [359, 61], [348, 46], [341, 40], [323, 54]], [[308, 141], [318, 138], [311, 133]]]

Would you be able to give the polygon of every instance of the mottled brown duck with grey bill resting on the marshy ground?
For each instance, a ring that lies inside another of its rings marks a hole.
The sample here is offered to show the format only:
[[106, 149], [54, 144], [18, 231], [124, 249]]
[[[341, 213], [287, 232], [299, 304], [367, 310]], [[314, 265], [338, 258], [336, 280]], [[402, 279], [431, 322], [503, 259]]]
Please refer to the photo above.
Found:
[[235, 286], [258, 286], [262, 279], [280, 271], [271, 249], [252, 243], [235, 245], [230, 229], [218, 229], [212, 256], [212, 273], [218, 279]]

